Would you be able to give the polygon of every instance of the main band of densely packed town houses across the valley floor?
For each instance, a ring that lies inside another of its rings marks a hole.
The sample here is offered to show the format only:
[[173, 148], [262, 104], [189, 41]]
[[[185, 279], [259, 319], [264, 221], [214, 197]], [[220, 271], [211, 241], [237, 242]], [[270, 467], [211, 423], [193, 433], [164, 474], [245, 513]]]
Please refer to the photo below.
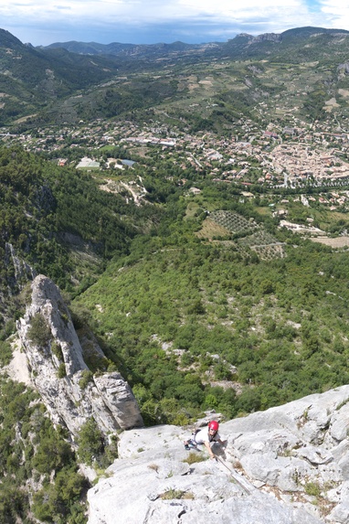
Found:
[[[100, 120], [64, 128], [36, 129], [35, 134], [9, 134], [3, 131], [1, 139], [7, 143], [20, 142], [34, 152], [45, 151], [57, 155], [58, 165], [69, 159], [59, 155], [67, 144], [69, 149], [84, 147], [96, 151], [105, 145], [119, 145], [137, 153], [144, 145], [159, 148], [163, 158], [185, 169], [205, 169], [215, 181], [246, 186], [252, 184], [272, 187], [317, 185], [319, 181], [349, 179], [348, 134], [333, 132], [328, 124], [317, 123], [312, 129], [306, 124], [276, 129], [269, 125], [260, 130], [256, 123], [241, 119], [229, 136], [214, 133], [190, 134], [169, 129], [165, 125], [154, 128], [143, 123], [102, 122]], [[146, 147], [146, 148], [147, 148]], [[146, 149], [145, 148], [145, 149]], [[144, 155], [144, 152], [143, 152]], [[145, 152], [146, 155], [146, 152]], [[100, 157], [86, 155], [79, 159], [79, 168], [98, 169], [132, 166], [132, 160], [109, 159], [101, 165]]]

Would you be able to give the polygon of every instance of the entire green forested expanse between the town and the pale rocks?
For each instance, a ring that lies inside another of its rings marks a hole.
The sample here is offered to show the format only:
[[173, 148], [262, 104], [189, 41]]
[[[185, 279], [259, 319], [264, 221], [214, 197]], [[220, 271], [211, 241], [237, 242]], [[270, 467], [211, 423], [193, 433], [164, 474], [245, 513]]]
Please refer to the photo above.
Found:
[[[136, 206], [18, 148], [1, 162], [4, 334], [30, 277], [10, 261], [10, 244], [76, 296], [77, 321], [93, 326], [149, 423], [213, 407], [232, 417], [348, 380], [346, 252], [279, 230], [233, 187], [201, 181], [189, 196], [188, 185], [160, 173], [152, 182], [144, 167], [148, 202]], [[206, 213], [219, 209], [247, 230], [209, 241]], [[268, 260], [252, 251], [247, 240], [258, 236], [281, 251]]]

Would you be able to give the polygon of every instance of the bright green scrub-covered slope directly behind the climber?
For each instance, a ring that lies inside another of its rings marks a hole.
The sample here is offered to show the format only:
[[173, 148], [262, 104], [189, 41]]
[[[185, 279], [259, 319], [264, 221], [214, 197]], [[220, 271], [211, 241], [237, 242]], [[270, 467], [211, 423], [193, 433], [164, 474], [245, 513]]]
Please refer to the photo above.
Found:
[[[263, 261], [199, 241], [201, 219], [185, 219], [181, 199], [172, 207], [156, 237], [133, 240], [72, 305], [89, 309], [144, 418], [231, 418], [347, 383], [347, 253], [273, 230], [286, 256]], [[225, 207], [255, 212], [234, 198]]]

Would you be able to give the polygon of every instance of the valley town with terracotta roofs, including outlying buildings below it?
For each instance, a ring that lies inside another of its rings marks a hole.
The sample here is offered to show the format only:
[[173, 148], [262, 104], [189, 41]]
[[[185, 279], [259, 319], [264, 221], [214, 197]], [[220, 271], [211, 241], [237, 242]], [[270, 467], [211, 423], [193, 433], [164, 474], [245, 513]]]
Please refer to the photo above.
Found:
[[[183, 170], [180, 183], [185, 183], [189, 170], [204, 173], [213, 182], [237, 184], [246, 189], [243, 194], [247, 198], [255, 190], [301, 188], [306, 194], [317, 187], [326, 194], [301, 197], [303, 206], [309, 207], [316, 201], [330, 210], [347, 212], [348, 193], [344, 189], [349, 186], [349, 133], [333, 130], [330, 123], [315, 122], [310, 126], [297, 121], [297, 124], [290, 127], [270, 123], [266, 129], [259, 129], [255, 123], [241, 119], [235, 133], [222, 137], [210, 132], [184, 133], [164, 123], [140, 125], [96, 120], [89, 124], [36, 128], [22, 134], [3, 128], [0, 139], [5, 144], [21, 144], [27, 151], [45, 155], [58, 166], [76, 166], [100, 172], [101, 176], [108, 174], [107, 183], [101, 186], [107, 190], [111, 179], [126, 176], [129, 180], [123, 179], [122, 185], [137, 202], [144, 196], [144, 189], [132, 181], [129, 169], [135, 163], [142, 166], [143, 159], [150, 156], [153, 169], [159, 161], [165, 161]], [[127, 157], [109, 156], [109, 150], [115, 147]], [[285, 219], [288, 211], [283, 204], [287, 200], [280, 198], [279, 202], [274, 215]], [[283, 225], [294, 230], [285, 220]], [[316, 232], [312, 223], [307, 230]]]

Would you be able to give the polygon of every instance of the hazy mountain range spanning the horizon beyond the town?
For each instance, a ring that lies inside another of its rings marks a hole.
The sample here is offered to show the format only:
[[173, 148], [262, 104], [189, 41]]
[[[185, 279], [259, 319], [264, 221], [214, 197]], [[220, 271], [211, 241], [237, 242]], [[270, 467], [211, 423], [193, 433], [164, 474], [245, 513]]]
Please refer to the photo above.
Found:
[[[330, 83], [336, 85], [341, 80], [336, 71], [347, 69], [348, 44], [349, 32], [343, 29], [300, 27], [257, 37], [243, 33], [220, 43], [104, 45], [69, 41], [33, 48], [0, 29], [0, 92], [3, 93], [0, 126], [16, 123], [23, 117], [26, 117], [26, 125], [77, 123], [125, 112], [130, 117], [130, 112], [135, 110], [148, 110], [164, 101], [174, 100], [174, 97], [175, 100], [183, 99], [185, 89], [191, 91], [183, 81], [177, 85], [178, 75], [183, 78], [193, 65], [201, 67], [203, 74], [211, 74], [208, 70], [204, 73], [204, 70], [211, 68], [215, 60], [235, 63], [267, 60], [275, 67], [279, 67], [278, 64], [303, 67], [303, 63], [317, 62], [323, 67], [321, 74], [327, 86], [323, 94], [325, 98], [331, 94], [326, 70], [332, 71]], [[165, 67], [168, 74], [159, 76]], [[274, 91], [282, 71], [282, 68], [280, 74], [275, 71]], [[139, 73], [147, 74], [140, 76]], [[238, 74], [245, 83], [246, 71], [241, 70]], [[130, 75], [133, 75], [132, 82], [130, 78], [126, 79]], [[258, 83], [257, 79], [254, 81]], [[319, 81], [322, 82], [320, 77]], [[270, 92], [268, 86], [260, 91], [257, 83], [253, 93], [251, 90], [246, 94], [238, 91], [232, 98], [226, 94], [231, 103], [234, 101], [234, 114], [237, 104], [245, 112], [260, 96], [265, 96], [263, 93]], [[320, 94], [323, 92], [322, 83], [316, 88]], [[283, 89], [282, 85], [279, 89]], [[226, 88], [223, 77], [220, 77], [215, 80], [215, 92], [222, 90]], [[227, 100], [220, 102], [225, 104]], [[319, 102], [319, 107], [323, 107], [324, 102]]]

